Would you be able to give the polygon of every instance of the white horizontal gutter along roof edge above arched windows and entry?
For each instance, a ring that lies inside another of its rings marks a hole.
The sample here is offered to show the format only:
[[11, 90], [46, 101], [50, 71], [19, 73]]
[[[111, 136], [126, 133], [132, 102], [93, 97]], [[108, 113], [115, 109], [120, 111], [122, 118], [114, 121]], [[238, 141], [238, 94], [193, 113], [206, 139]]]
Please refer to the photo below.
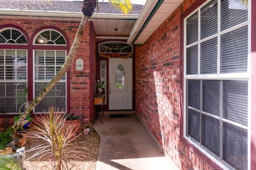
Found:
[[[63, 11], [35, 11], [35, 10], [12, 10], [0, 8], [0, 15], [14, 16], [41, 16], [41, 17], [60, 17], [60, 18], [82, 18], [82, 12], [63, 12]], [[90, 19], [138, 19], [139, 14], [115, 14], [115, 13], [96, 13]]]

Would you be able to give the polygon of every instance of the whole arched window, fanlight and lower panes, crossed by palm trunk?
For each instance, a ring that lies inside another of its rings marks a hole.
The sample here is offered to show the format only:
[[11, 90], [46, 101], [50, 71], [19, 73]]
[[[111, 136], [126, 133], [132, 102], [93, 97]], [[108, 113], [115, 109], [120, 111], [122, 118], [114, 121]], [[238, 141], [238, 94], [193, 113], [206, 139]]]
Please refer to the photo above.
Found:
[[[45, 50], [34, 50], [34, 97], [38, 96], [65, 62], [66, 50], [57, 50], [57, 45], [65, 45], [66, 40], [56, 30], [43, 30], [34, 38], [34, 45], [43, 45]], [[50, 46], [50, 47], [49, 47]], [[47, 111], [49, 106], [55, 105], [66, 111], [66, 75], [36, 106], [35, 112]]]

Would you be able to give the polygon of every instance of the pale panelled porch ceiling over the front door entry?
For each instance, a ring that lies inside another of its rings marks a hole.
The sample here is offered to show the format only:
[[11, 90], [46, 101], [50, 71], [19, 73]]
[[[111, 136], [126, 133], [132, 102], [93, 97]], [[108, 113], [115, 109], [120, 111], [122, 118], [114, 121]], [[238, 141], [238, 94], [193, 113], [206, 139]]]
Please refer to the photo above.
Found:
[[[130, 36], [136, 20], [118, 19], [92, 19], [96, 35], [105, 36]], [[114, 31], [118, 28], [117, 31]]]

